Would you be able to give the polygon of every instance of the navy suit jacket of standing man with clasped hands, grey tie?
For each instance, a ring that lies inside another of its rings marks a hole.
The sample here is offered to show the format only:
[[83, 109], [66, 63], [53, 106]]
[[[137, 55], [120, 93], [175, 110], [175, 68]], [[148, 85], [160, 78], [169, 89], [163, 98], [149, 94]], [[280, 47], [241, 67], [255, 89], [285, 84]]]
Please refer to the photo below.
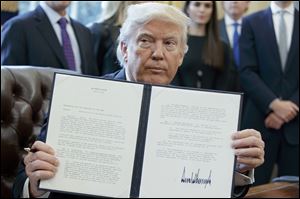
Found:
[[[264, 139], [272, 136], [264, 120], [269, 105], [276, 99], [290, 100], [299, 106], [299, 12], [295, 10], [292, 43], [285, 70], [282, 70], [270, 8], [243, 20], [240, 38], [241, 84], [249, 100], [245, 107], [244, 128], [263, 132]], [[299, 115], [287, 124], [284, 132], [288, 143], [299, 144]]]

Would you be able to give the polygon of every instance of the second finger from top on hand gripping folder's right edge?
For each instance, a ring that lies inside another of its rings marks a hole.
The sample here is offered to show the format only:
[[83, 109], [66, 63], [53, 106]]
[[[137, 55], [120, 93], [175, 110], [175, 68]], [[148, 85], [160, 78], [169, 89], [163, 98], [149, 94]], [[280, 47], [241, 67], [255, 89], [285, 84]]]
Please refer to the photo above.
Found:
[[232, 147], [234, 149], [249, 148], [249, 147], [264, 148], [265, 143], [262, 141], [262, 139], [259, 139], [255, 136], [250, 136], [243, 139], [233, 140]]

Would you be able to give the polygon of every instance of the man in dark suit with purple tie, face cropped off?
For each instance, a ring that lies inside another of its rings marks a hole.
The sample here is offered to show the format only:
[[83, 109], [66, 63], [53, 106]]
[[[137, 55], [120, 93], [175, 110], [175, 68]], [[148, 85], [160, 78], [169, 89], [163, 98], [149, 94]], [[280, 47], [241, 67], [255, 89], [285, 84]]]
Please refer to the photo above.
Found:
[[5, 23], [1, 65], [45, 66], [98, 75], [91, 33], [67, 15], [70, 3], [41, 2], [34, 11]]

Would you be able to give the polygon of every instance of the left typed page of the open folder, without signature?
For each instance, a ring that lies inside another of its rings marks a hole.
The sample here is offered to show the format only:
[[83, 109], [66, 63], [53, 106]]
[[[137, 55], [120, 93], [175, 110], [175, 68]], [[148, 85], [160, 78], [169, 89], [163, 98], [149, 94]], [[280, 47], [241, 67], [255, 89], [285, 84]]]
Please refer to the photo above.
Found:
[[129, 197], [143, 85], [56, 74], [46, 143], [60, 161], [40, 188]]

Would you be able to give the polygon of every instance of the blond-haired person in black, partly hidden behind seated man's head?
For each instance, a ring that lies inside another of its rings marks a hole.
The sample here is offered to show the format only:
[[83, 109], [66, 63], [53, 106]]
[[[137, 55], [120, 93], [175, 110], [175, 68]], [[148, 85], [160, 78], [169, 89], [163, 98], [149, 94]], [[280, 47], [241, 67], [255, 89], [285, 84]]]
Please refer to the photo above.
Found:
[[99, 22], [90, 25], [94, 41], [94, 56], [100, 75], [121, 69], [116, 50], [120, 28], [126, 18], [129, 5], [142, 1], [103, 1], [102, 14]]

